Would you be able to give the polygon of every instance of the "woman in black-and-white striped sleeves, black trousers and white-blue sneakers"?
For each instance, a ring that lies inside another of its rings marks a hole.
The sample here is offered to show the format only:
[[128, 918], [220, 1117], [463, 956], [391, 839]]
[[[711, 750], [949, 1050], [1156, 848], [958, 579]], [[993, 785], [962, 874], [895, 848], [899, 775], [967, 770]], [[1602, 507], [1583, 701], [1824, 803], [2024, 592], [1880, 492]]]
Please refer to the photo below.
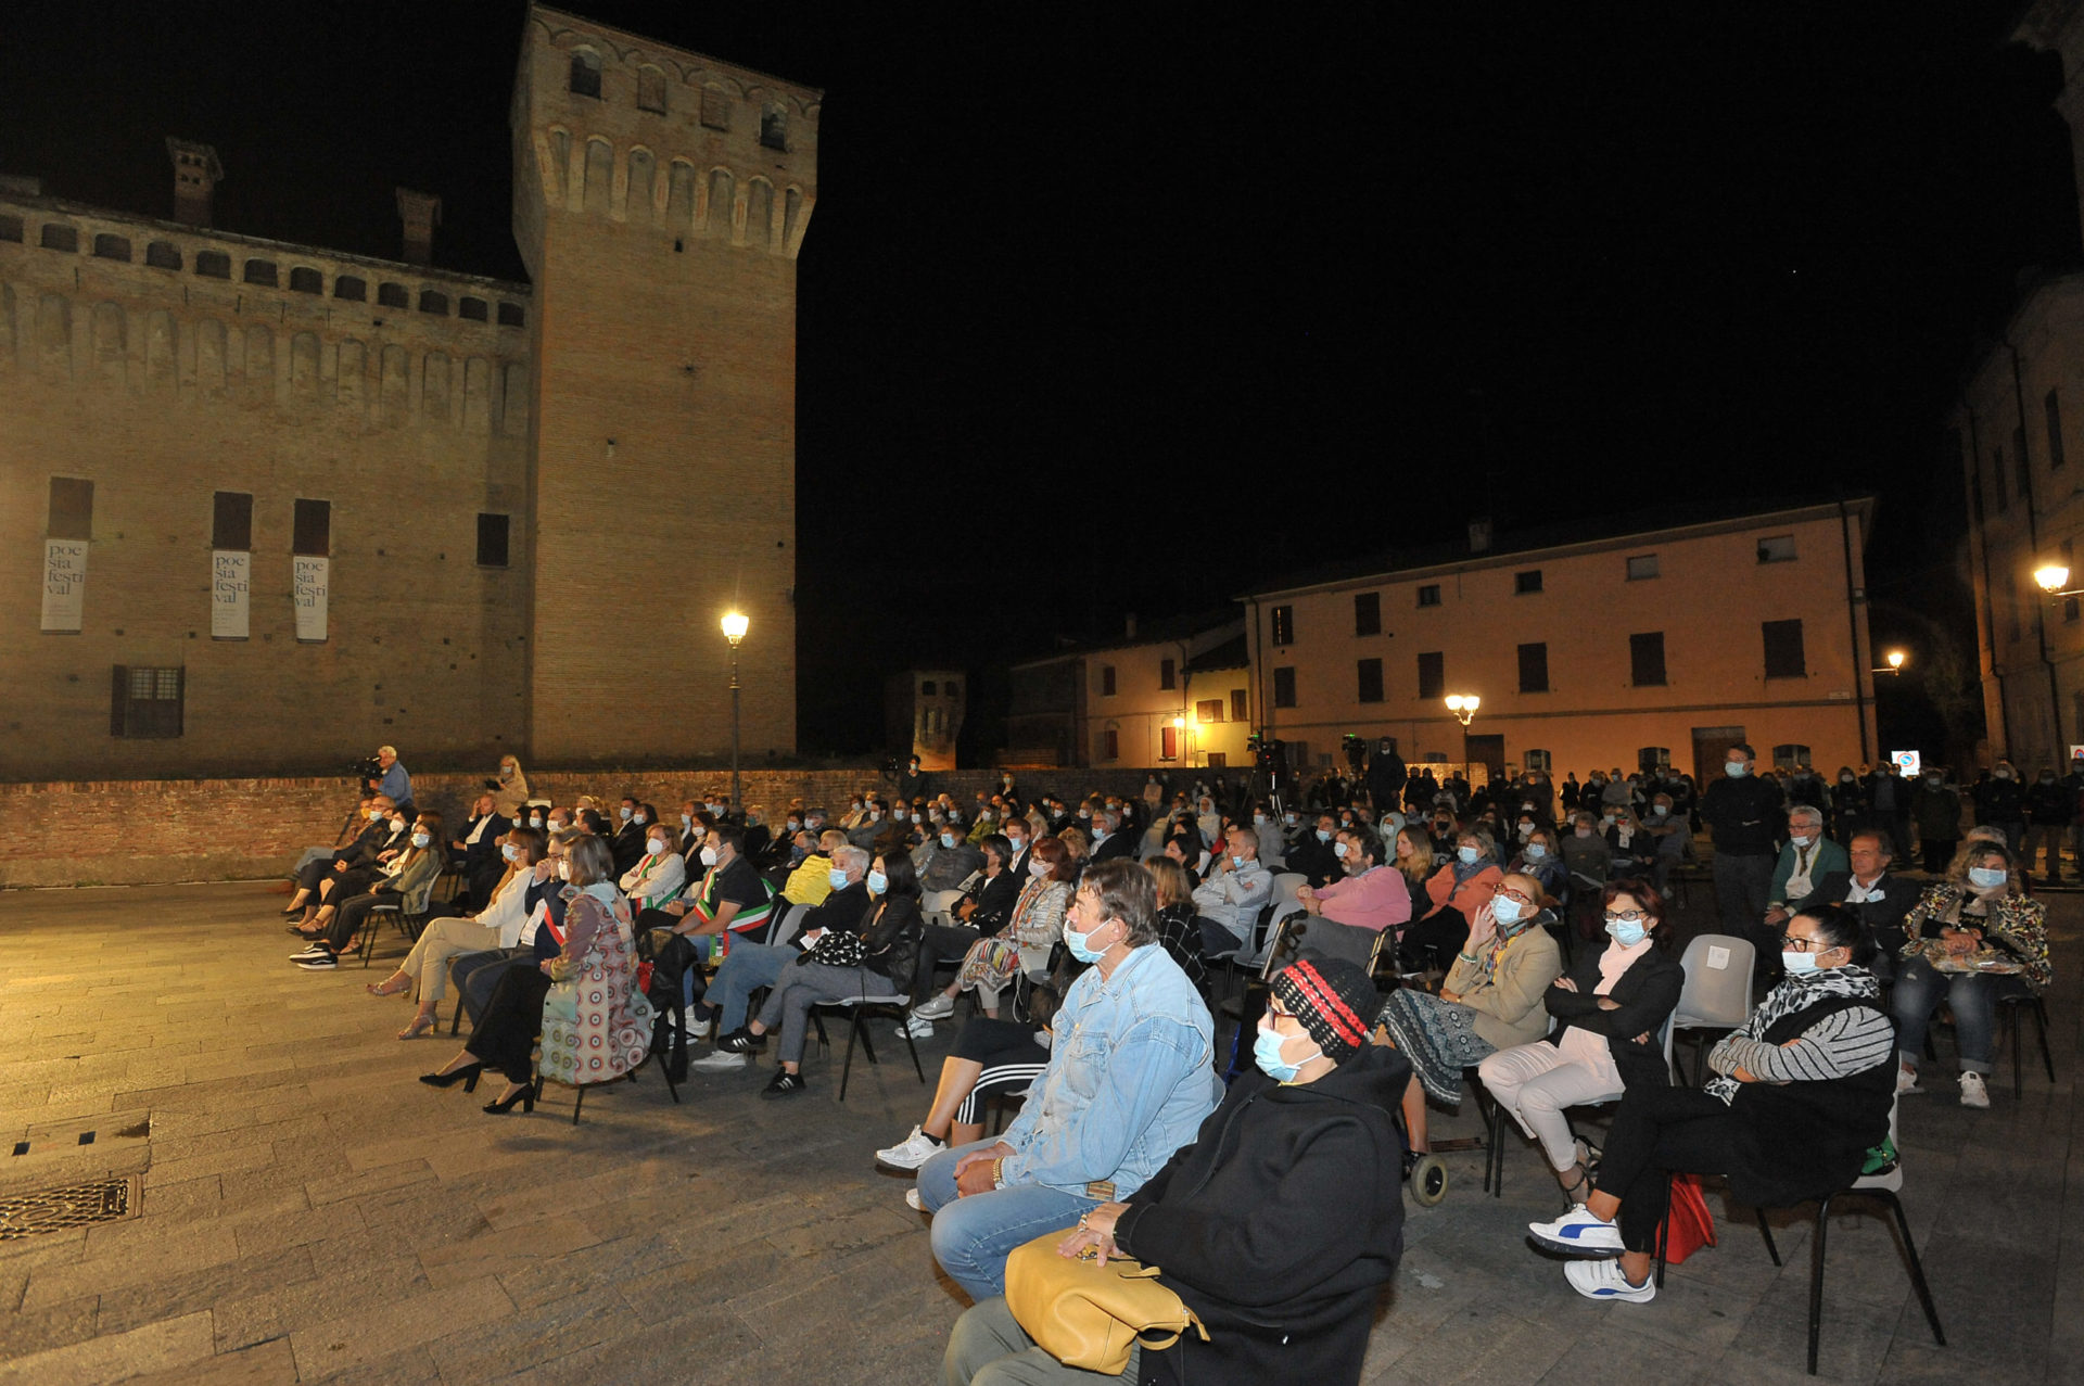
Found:
[[1859, 1178], [1888, 1138], [1894, 1025], [1874, 955], [1844, 905], [1788, 919], [1786, 977], [1709, 1055], [1707, 1088], [1630, 1088], [1613, 1113], [1596, 1188], [1582, 1207], [1528, 1232], [1596, 1261], [1563, 1267], [1586, 1298], [1657, 1298], [1651, 1257], [1673, 1173], [1721, 1173], [1759, 1209], [1821, 1198]]

